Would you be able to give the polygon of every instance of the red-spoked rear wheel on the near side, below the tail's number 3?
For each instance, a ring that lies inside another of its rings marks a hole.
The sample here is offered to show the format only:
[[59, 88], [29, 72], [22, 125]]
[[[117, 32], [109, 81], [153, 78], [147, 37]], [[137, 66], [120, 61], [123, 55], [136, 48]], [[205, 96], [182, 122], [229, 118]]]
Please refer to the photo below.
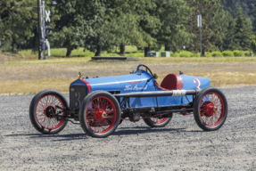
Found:
[[218, 130], [227, 118], [227, 99], [215, 87], [202, 89], [194, 102], [194, 119], [204, 131]]

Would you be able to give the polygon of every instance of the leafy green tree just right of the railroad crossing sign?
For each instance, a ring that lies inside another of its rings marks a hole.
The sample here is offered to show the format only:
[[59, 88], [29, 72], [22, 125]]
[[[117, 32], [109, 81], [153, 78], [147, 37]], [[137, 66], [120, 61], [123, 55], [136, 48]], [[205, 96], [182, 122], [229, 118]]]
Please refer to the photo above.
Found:
[[67, 48], [66, 56], [78, 46], [85, 46], [87, 38], [92, 37], [92, 23], [96, 20], [99, 4], [97, 0], [57, 0], [54, 15], [53, 38]]

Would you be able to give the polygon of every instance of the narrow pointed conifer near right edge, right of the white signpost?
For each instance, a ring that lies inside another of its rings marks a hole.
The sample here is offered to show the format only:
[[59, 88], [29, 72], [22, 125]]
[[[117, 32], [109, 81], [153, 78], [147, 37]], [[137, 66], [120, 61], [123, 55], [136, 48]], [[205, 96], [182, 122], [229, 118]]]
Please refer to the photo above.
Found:
[[252, 22], [244, 15], [243, 9], [240, 8], [236, 13], [235, 18], [235, 49], [250, 50], [252, 37]]

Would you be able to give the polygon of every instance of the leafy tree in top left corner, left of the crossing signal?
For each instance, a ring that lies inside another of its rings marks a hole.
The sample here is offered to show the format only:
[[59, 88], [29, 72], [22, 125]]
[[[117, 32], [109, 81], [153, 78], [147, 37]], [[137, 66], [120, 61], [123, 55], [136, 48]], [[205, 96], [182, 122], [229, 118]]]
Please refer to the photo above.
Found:
[[0, 37], [3, 45], [12, 46], [12, 53], [17, 52], [17, 46], [26, 44], [33, 37], [32, 30], [37, 24], [37, 12], [33, 5], [36, 0], [3, 0], [0, 5], [1, 22]]

